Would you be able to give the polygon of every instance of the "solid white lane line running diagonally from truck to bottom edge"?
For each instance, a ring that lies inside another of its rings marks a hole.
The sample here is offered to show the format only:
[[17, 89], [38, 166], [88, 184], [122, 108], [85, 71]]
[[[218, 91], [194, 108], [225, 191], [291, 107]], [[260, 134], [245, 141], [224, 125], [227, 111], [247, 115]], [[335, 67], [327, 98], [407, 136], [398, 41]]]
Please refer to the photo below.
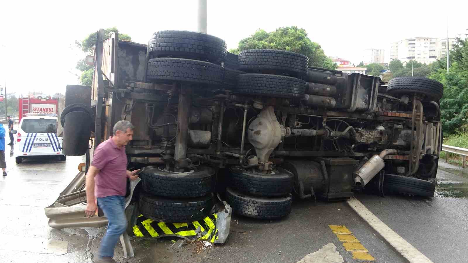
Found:
[[419, 250], [408, 243], [408, 241], [404, 240], [399, 234], [396, 234], [395, 231], [378, 219], [358, 199], [351, 197], [347, 203], [410, 263], [432, 263], [429, 258], [423, 255], [423, 253], [419, 252]]

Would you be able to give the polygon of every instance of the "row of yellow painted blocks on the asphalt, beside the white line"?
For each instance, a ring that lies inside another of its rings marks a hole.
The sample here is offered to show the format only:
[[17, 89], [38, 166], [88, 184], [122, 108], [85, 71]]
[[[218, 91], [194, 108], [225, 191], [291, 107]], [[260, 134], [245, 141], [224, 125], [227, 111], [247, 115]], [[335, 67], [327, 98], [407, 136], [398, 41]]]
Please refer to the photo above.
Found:
[[369, 254], [359, 240], [351, 233], [346, 226], [328, 225], [339, 241], [343, 243], [346, 251], [352, 252], [352, 258], [357, 260], [374, 261], [375, 258]]

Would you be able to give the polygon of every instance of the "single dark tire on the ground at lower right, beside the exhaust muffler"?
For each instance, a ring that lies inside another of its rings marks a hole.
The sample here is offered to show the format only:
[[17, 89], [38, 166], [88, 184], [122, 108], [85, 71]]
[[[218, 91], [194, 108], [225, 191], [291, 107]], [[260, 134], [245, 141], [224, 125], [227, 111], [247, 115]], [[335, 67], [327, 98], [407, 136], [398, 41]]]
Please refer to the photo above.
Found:
[[426, 180], [402, 175], [385, 175], [384, 189], [394, 192], [422, 197], [433, 197], [435, 184]]

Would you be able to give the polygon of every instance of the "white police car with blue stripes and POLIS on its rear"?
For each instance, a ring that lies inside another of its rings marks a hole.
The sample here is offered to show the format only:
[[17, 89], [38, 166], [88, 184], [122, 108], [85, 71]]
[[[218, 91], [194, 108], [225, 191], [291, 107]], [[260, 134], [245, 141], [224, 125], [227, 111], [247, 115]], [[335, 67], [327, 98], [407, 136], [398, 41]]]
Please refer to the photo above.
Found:
[[62, 138], [57, 136], [56, 114], [25, 114], [22, 117], [15, 139], [14, 154], [17, 163], [29, 156], [59, 156], [62, 153]]

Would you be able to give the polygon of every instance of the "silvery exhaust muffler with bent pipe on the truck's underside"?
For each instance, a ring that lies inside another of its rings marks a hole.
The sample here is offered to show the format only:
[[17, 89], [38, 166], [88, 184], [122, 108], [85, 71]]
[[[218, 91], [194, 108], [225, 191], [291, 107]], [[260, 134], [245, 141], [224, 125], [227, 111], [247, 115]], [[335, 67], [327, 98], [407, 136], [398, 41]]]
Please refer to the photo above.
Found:
[[375, 175], [377, 175], [382, 168], [385, 167], [383, 158], [388, 154], [398, 153], [394, 149], [385, 149], [379, 155], [375, 154], [369, 159], [361, 168], [353, 173], [354, 183], [356, 186], [365, 186], [369, 183]]

